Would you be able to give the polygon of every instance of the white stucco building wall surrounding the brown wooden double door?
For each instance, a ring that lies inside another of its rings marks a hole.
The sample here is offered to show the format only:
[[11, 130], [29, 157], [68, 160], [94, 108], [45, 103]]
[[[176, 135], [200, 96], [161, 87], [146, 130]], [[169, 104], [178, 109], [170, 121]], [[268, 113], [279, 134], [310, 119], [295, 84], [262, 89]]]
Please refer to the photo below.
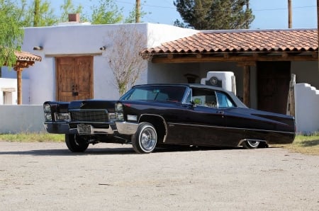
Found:
[[[138, 23], [125, 24], [137, 28], [147, 35], [145, 47], [160, 45], [162, 42], [184, 38], [196, 33], [196, 30], [178, 28], [172, 25]], [[40, 28], [25, 28], [22, 50], [40, 55], [42, 62], [35, 62], [33, 67], [23, 70], [23, 79], [30, 80], [30, 101], [28, 104], [41, 104], [55, 100], [55, 56], [61, 55], [94, 55], [94, 98], [118, 98], [118, 91], [113, 83], [113, 74], [108, 67], [107, 51], [100, 47], [110, 46], [108, 34], [120, 25], [57, 25]], [[33, 50], [43, 46], [43, 50]], [[123, 58], [125, 59], [125, 58]], [[149, 69], [149, 68], [148, 68]], [[16, 78], [14, 72], [3, 69], [4, 78]], [[145, 70], [138, 84], [146, 84], [152, 76]], [[23, 96], [26, 95], [23, 89]], [[29, 92], [29, 91], [28, 91]], [[25, 103], [23, 101], [23, 103]]]

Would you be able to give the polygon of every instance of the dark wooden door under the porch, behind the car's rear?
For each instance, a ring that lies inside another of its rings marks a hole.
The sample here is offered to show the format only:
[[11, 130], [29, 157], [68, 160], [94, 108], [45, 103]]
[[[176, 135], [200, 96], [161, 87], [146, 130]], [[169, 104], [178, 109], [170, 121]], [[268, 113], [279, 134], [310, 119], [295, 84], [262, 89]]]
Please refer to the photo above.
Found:
[[257, 62], [258, 109], [286, 114], [290, 62]]

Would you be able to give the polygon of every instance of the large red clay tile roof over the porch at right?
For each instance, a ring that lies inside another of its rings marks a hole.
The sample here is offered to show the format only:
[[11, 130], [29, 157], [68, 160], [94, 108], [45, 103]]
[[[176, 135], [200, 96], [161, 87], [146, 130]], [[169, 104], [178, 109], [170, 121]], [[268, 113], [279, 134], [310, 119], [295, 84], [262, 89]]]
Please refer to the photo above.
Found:
[[301, 52], [318, 50], [315, 29], [296, 30], [212, 30], [203, 31], [157, 47], [143, 50], [147, 54], [205, 52]]

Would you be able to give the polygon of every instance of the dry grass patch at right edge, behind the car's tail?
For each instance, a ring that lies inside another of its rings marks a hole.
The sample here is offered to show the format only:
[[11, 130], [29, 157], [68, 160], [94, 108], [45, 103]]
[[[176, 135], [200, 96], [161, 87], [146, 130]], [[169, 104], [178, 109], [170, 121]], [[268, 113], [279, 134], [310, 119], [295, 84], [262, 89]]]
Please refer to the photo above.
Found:
[[319, 135], [296, 135], [292, 144], [278, 144], [274, 147], [283, 147], [302, 154], [319, 155]]

